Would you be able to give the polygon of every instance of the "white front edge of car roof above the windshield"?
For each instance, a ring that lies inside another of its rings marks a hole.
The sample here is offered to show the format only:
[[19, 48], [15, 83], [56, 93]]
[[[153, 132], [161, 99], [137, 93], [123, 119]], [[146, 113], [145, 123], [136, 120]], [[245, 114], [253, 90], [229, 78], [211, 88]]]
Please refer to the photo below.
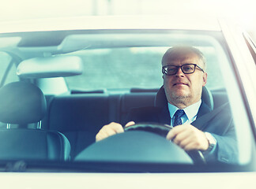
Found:
[[216, 17], [202, 15], [92, 16], [0, 22], [0, 33], [94, 29], [181, 29], [220, 31]]

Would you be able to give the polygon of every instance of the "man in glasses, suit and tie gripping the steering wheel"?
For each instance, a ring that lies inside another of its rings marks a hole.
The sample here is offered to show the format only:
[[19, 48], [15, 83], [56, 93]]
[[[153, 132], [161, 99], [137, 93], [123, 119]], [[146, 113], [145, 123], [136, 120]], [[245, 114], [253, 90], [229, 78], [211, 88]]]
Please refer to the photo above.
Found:
[[[175, 46], [162, 58], [164, 86], [156, 96], [158, 107], [134, 109], [128, 124], [157, 122], [169, 124], [166, 138], [186, 151], [201, 150], [206, 161], [236, 162], [235, 128], [228, 103], [213, 111], [201, 99], [207, 82], [206, 61], [200, 50]], [[96, 141], [124, 132], [121, 124], [100, 129]]]

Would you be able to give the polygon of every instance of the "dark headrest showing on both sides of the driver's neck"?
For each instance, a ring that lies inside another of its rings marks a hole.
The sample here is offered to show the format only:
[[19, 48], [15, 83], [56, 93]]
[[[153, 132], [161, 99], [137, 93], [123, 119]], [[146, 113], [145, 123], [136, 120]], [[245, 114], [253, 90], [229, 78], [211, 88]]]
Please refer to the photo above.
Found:
[[[213, 110], [213, 95], [207, 87], [202, 87], [201, 100], [205, 102], [207, 106], [209, 106], [209, 109]], [[167, 98], [165, 96], [164, 87], [162, 86], [156, 94], [155, 106], [163, 107], [166, 103]]]

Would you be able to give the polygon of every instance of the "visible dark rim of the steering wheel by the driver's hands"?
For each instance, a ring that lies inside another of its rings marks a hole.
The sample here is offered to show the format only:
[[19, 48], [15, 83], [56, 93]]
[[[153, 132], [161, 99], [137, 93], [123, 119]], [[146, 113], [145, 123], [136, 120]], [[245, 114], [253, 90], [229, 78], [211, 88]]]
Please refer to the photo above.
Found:
[[[157, 135], [161, 135], [164, 138], [170, 132], [171, 128], [168, 125], [165, 124], [157, 124], [157, 123], [139, 123], [139, 124], [133, 124], [126, 128], [124, 128], [125, 132], [131, 132], [131, 131], [145, 131], [145, 132], [152, 132]], [[186, 153], [190, 156], [190, 158], [194, 161], [194, 164], [205, 164], [205, 157], [201, 153], [200, 150], [190, 150], [186, 151]]]

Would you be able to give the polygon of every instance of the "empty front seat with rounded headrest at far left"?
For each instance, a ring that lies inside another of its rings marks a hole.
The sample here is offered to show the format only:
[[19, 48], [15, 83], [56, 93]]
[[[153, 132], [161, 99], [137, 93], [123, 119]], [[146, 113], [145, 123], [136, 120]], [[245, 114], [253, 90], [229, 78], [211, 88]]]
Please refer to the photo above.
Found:
[[[7, 124], [0, 129], [1, 160], [58, 160], [70, 158], [70, 143], [60, 132], [24, 128], [40, 123], [46, 114], [46, 100], [40, 88], [32, 83], [13, 82], [0, 88], [0, 121]], [[11, 128], [18, 124], [20, 128]], [[39, 124], [40, 125], [40, 124]]]

